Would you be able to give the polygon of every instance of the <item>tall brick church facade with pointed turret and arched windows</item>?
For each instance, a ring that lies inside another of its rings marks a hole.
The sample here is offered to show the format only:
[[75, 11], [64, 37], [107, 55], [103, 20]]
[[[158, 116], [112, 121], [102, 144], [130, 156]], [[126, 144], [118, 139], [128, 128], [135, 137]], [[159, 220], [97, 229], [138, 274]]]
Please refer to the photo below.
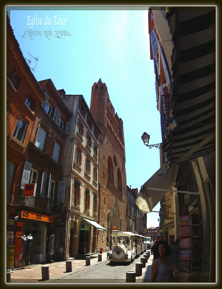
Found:
[[106, 232], [99, 231], [98, 246], [109, 247], [113, 226], [116, 226], [116, 230], [126, 231], [126, 159], [123, 121], [115, 113], [106, 84], [102, 83], [101, 78], [92, 86], [90, 110], [101, 129], [99, 224], [106, 228]]

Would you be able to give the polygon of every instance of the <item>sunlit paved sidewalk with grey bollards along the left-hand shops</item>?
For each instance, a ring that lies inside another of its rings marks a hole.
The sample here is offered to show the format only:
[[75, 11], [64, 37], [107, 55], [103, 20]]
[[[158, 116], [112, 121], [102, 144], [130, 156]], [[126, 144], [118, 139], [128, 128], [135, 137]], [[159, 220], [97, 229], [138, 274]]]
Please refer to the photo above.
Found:
[[[98, 254], [95, 253], [91, 255], [90, 266], [107, 261], [107, 252], [102, 253], [102, 261], [98, 261]], [[72, 260], [72, 272], [66, 272], [65, 261], [45, 263], [45, 264], [35, 264], [31, 268], [16, 268], [11, 271], [11, 283], [33, 283], [33, 282], [44, 282], [42, 280], [42, 266], [49, 266], [49, 276], [50, 279], [55, 279], [62, 276], [68, 276], [73, 274], [75, 271], [80, 270], [86, 266], [85, 256], [79, 257], [79, 259]]]

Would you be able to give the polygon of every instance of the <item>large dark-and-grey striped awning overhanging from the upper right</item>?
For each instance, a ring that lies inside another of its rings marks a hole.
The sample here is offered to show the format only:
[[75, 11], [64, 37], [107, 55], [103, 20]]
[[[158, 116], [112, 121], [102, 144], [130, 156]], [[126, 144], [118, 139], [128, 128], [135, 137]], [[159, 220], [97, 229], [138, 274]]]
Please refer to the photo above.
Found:
[[215, 7], [183, 7], [167, 18], [174, 48], [170, 126], [163, 150], [170, 168], [216, 147], [216, 12]]

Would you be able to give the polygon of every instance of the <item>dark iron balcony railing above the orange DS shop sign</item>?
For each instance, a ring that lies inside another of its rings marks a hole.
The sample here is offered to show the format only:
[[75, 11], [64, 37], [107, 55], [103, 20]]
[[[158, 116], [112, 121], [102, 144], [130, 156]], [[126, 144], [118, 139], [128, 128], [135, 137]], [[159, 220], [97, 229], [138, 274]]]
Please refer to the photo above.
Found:
[[35, 194], [35, 197], [15, 197], [13, 201], [10, 198], [9, 201], [7, 200], [7, 203], [9, 202], [15, 206], [29, 206], [32, 208], [38, 208], [58, 214], [61, 214], [63, 209], [63, 203], [57, 202], [54, 199], [48, 198], [38, 193]]

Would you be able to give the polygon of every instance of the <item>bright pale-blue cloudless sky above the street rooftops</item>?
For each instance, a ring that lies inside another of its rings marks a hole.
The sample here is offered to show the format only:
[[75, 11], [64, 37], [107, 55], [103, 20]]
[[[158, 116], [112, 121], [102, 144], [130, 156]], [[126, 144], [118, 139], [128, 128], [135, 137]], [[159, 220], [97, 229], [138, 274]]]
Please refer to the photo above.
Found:
[[[57, 90], [83, 95], [89, 107], [93, 83], [99, 78], [106, 83], [123, 120], [127, 185], [140, 190], [160, 167], [159, 149], [149, 149], [141, 139], [145, 131], [150, 144], [161, 142], [148, 7], [80, 9], [30, 6], [7, 11], [24, 57], [31, 59], [30, 67], [36, 65], [37, 81], [51, 78]], [[153, 210], [159, 211], [159, 204]], [[158, 218], [158, 213], [147, 214], [147, 227], [159, 226]]]

